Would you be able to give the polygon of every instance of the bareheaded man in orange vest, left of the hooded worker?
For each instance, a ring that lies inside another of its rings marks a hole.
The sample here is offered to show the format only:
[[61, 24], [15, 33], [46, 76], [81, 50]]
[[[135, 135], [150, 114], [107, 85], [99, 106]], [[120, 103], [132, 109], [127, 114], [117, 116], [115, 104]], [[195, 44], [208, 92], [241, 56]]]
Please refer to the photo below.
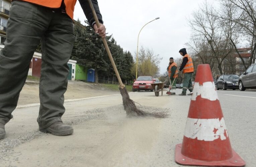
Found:
[[169, 59], [169, 65], [167, 67], [168, 76], [170, 79], [170, 87], [169, 92], [166, 94], [168, 95], [176, 95], [176, 78], [178, 77], [178, 70], [177, 70], [177, 64], [174, 62], [173, 57], [170, 57]]

